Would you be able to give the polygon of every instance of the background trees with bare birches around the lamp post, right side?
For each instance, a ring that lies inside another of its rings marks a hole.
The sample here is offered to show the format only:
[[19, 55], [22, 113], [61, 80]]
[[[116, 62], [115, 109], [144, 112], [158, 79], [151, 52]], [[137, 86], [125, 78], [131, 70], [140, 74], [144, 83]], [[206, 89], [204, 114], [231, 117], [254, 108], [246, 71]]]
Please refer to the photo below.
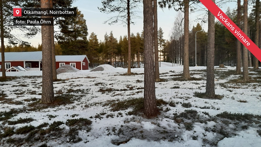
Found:
[[[228, 17], [236, 23], [237, 21], [237, 10], [230, 11], [227, 10], [226, 14]], [[249, 38], [255, 42], [255, 31], [256, 23], [255, 23], [255, 9], [252, 10], [248, 17], [248, 36]], [[163, 49], [163, 61], [173, 62], [182, 64], [182, 49], [184, 45], [184, 35], [183, 33], [180, 35], [179, 32], [182, 30], [179, 28], [180, 26], [175, 25], [174, 22], [171, 39], [166, 42], [166, 45]], [[236, 23], [237, 24], [237, 23]], [[260, 24], [260, 21], [259, 21]], [[242, 28], [242, 23], [239, 27]], [[195, 33], [197, 31], [202, 30], [202, 26], [198, 23], [196, 26], [193, 26], [192, 30], [189, 32], [189, 65], [195, 66]], [[259, 32], [260, 25], [259, 25]], [[260, 37], [259, 33], [259, 45], [260, 46]], [[207, 55], [207, 32], [201, 31], [197, 33], [197, 65], [198, 66], [206, 66], [206, 55]], [[236, 66], [236, 57], [237, 57], [237, 48], [236, 48], [237, 38], [233, 36], [233, 34], [225, 28], [225, 26], [219, 21], [215, 22], [215, 66], [219, 64], [224, 64], [226, 66]], [[242, 47], [242, 45], [241, 45]], [[249, 67], [253, 66], [254, 56], [252, 53], [248, 51], [249, 55]], [[242, 53], [241, 53], [242, 58]], [[242, 60], [241, 60], [242, 63]], [[260, 65], [260, 62], [259, 62]]]

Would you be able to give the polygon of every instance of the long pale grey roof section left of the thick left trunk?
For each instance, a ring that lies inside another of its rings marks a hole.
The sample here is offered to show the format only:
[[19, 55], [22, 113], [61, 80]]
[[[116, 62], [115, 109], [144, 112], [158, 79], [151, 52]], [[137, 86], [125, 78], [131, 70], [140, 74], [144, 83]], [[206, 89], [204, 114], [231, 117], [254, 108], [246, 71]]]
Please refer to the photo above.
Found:
[[[37, 52], [5, 52], [5, 61], [41, 61], [42, 51]], [[0, 53], [0, 61], [2, 61]]]

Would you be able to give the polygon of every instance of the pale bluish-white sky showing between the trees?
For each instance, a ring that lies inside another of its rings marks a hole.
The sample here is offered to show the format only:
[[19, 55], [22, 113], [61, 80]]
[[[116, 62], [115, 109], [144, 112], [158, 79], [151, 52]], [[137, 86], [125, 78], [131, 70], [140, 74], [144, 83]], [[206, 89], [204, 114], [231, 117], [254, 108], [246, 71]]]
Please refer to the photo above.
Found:
[[[142, 4], [140, 4], [142, 5]], [[220, 4], [217, 4], [220, 6]], [[104, 40], [104, 35], [107, 32], [109, 34], [111, 31], [113, 32], [113, 36], [119, 40], [120, 36], [127, 35], [127, 26], [123, 26], [123, 24], [114, 24], [109, 25], [104, 24], [104, 21], [108, 20], [110, 17], [117, 15], [118, 13], [106, 14], [99, 11], [98, 7], [102, 7], [102, 3], [99, 0], [76, 0], [73, 4], [73, 7], [78, 7], [79, 11], [84, 15], [84, 19], [86, 19], [86, 24], [88, 28], [88, 36], [94, 32], [97, 35], [99, 41]], [[207, 32], [207, 23], [202, 23], [198, 18], [202, 18], [206, 13], [207, 9], [201, 4], [193, 4], [197, 9], [194, 12], [190, 12], [189, 14], [189, 29], [191, 30], [193, 26], [196, 26], [197, 23], [201, 24], [203, 30]], [[227, 8], [234, 9], [237, 7], [235, 2], [228, 2], [223, 4], [220, 8], [222, 11], [226, 11]], [[204, 8], [204, 9], [203, 9]], [[143, 8], [140, 7], [139, 15], [143, 16]], [[171, 35], [171, 30], [173, 27], [173, 23], [175, 18], [177, 17], [178, 12], [176, 12], [173, 8], [159, 8], [158, 7], [158, 28], [161, 27], [164, 34], [163, 38], [165, 40], [169, 40]], [[217, 19], [216, 19], [217, 20]], [[137, 32], [141, 33], [143, 31], [143, 18], [134, 19], [134, 25], [130, 26], [130, 32], [136, 34]], [[31, 39], [26, 39], [26, 41], [30, 42], [31, 45], [37, 46], [38, 43], [41, 44], [41, 34], [36, 35]]]

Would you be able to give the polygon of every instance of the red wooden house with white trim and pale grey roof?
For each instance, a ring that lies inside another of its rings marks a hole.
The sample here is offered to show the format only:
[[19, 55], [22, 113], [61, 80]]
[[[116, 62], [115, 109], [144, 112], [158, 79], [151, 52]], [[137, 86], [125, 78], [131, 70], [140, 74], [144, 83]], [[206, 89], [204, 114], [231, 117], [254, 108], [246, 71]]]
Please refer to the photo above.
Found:
[[[72, 65], [78, 70], [88, 70], [89, 60], [86, 55], [59, 55], [56, 58], [56, 69], [62, 65]], [[36, 52], [6, 52], [4, 53], [5, 69], [12, 71], [17, 66], [23, 67], [27, 71], [42, 70], [42, 51]], [[0, 53], [0, 72], [2, 57]], [[15, 67], [15, 68], [11, 68]]]

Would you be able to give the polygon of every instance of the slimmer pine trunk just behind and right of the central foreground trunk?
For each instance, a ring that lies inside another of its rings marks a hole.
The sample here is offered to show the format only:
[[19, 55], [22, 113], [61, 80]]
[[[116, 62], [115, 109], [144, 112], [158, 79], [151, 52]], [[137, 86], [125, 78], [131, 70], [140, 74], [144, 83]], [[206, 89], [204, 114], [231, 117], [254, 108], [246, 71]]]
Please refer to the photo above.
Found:
[[153, 35], [154, 35], [154, 57], [155, 57], [155, 81], [159, 80], [159, 48], [158, 48], [158, 13], [157, 0], [153, 0]]

